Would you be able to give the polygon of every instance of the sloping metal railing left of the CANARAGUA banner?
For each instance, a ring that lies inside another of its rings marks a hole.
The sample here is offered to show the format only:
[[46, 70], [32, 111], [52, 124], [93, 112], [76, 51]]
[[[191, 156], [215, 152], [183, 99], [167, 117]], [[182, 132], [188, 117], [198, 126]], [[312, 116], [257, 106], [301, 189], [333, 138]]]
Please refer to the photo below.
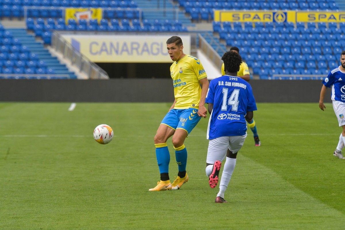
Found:
[[106, 71], [72, 47], [57, 31], [52, 33], [51, 46], [89, 79], [109, 79]]

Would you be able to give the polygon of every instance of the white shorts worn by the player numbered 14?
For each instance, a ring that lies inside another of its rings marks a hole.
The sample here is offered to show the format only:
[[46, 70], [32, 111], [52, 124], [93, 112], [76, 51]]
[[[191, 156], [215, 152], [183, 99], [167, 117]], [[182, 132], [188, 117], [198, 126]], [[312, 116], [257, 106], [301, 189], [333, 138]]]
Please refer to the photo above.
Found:
[[238, 152], [242, 148], [246, 137], [247, 134], [243, 136], [217, 137], [209, 140], [206, 163], [213, 164], [217, 160], [223, 161], [228, 149], [233, 153]]

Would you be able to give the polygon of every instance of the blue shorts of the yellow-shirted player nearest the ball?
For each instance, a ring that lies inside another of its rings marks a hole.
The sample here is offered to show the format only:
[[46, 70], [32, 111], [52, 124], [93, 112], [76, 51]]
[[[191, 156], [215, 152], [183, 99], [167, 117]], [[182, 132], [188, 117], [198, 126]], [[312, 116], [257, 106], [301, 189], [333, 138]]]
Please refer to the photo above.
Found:
[[195, 108], [172, 109], [165, 115], [161, 124], [165, 124], [174, 130], [186, 130], [189, 134], [201, 119], [197, 112], [198, 110]]

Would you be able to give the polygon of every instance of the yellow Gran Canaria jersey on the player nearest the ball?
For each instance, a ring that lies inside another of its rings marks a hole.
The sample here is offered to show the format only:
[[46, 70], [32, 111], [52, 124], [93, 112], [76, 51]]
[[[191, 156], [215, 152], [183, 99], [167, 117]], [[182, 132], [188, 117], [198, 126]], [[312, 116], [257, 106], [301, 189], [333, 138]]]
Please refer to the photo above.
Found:
[[207, 78], [200, 60], [186, 54], [170, 66], [170, 75], [174, 84], [174, 109], [199, 109], [201, 86], [199, 80]]

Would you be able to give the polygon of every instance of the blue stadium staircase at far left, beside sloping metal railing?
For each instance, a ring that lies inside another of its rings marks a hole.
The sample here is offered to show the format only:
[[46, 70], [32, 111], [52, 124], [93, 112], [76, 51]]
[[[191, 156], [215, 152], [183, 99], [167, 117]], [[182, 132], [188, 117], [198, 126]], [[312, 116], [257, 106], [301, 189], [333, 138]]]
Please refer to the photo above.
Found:
[[67, 74], [70, 79], [77, 79], [77, 76], [73, 72], [70, 72], [65, 65], [60, 64], [56, 57], [52, 57], [42, 42], [36, 41], [33, 35], [27, 33], [26, 29], [7, 30], [13, 34], [13, 38], [19, 39], [23, 46], [28, 47], [31, 53], [36, 54], [39, 60], [45, 62], [47, 68], [52, 69], [54, 73]]

